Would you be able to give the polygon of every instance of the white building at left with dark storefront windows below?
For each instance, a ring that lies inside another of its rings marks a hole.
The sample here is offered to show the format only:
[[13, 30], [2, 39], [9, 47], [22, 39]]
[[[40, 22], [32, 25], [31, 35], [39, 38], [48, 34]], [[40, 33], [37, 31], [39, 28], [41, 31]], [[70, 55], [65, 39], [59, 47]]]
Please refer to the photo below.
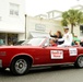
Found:
[[24, 39], [24, 0], [0, 0], [0, 39], [5, 44]]

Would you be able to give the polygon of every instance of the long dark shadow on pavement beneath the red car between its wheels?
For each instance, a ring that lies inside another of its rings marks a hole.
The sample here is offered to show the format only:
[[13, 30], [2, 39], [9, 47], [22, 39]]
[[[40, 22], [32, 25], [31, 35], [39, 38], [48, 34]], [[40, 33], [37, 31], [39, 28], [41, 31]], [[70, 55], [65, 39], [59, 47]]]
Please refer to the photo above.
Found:
[[76, 69], [73, 66], [55, 66], [55, 67], [42, 67], [42, 68], [33, 68], [28, 73], [40, 73], [40, 72], [51, 72], [51, 71], [64, 71], [64, 70], [74, 70]]

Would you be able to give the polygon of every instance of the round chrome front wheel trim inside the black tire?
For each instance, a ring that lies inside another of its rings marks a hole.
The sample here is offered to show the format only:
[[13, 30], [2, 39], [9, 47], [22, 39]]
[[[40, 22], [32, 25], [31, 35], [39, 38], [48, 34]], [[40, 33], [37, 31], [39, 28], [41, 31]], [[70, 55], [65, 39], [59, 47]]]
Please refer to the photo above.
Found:
[[26, 69], [27, 69], [27, 62], [25, 59], [19, 59], [15, 62], [15, 70], [17, 73], [22, 74], [26, 71]]

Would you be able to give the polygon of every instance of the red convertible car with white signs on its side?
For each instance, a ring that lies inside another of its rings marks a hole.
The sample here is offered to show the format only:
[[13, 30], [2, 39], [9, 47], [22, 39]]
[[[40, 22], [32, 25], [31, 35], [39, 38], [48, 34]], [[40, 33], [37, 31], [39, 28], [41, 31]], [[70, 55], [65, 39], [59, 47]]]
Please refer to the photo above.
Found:
[[32, 67], [70, 65], [83, 68], [83, 47], [55, 47], [49, 38], [32, 38], [21, 46], [0, 46], [0, 68], [25, 74]]

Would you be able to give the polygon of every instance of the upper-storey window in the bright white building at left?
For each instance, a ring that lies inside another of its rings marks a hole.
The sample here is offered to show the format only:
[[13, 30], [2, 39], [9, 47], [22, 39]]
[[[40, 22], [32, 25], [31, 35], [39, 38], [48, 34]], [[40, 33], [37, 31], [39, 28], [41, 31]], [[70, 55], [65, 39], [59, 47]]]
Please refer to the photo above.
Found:
[[10, 15], [19, 16], [19, 4], [10, 3]]

